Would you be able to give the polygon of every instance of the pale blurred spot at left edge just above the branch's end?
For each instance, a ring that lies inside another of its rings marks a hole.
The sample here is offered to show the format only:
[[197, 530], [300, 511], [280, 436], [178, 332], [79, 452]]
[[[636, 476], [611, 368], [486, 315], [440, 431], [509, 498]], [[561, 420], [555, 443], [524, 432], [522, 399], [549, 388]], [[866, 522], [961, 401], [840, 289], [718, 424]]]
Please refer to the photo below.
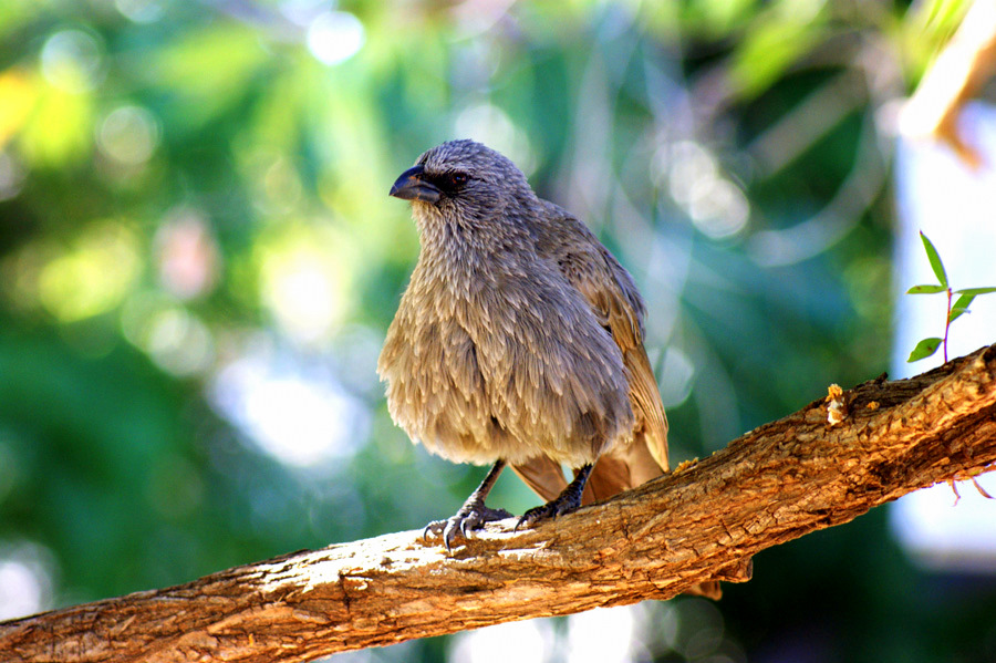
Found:
[[41, 612], [52, 603], [52, 556], [27, 541], [0, 546], [0, 621]]

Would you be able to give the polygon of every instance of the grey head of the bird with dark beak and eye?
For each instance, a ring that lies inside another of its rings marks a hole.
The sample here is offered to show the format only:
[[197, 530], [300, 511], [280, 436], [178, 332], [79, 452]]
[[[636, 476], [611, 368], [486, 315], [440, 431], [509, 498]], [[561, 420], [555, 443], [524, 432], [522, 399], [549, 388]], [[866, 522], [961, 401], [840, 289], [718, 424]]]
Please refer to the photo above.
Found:
[[492, 217], [518, 196], [531, 195], [526, 176], [490, 147], [449, 141], [424, 153], [397, 178], [390, 195], [412, 200], [423, 211], [465, 219]]

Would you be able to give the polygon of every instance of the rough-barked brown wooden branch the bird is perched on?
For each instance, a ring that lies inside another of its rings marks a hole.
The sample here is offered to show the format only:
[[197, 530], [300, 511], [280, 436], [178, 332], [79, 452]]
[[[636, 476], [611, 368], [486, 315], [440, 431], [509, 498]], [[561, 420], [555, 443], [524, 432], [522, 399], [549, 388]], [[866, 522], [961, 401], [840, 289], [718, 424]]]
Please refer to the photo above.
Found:
[[[310, 661], [743, 581], [750, 556], [996, 463], [996, 345], [816, 401], [705, 460], [447, 558], [419, 531], [0, 624], [4, 661]], [[831, 417], [832, 418], [832, 417]]]

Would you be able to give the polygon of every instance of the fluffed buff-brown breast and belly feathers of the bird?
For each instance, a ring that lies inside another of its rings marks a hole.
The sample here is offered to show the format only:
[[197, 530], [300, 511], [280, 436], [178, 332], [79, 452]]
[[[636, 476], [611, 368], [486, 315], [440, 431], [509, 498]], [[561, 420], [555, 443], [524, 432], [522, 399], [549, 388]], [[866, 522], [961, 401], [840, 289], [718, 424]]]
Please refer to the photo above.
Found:
[[458, 462], [593, 462], [633, 427], [619, 348], [554, 273], [491, 267], [416, 267], [378, 362], [392, 416]]

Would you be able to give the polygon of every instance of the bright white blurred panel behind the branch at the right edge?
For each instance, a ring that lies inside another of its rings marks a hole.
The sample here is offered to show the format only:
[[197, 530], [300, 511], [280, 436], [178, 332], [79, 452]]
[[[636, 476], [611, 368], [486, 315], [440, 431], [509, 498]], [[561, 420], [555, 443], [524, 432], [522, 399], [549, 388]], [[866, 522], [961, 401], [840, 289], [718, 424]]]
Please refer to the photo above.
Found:
[[[942, 350], [906, 363], [917, 341], [944, 335], [946, 298], [904, 294], [912, 286], [935, 283], [919, 232], [937, 248], [954, 289], [996, 286], [996, 107], [975, 102], [961, 117], [961, 132], [983, 155], [973, 169], [947, 147], [900, 136], [896, 197], [900, 218], [895, 245], [896, 324], [892, 371], [906, 377], [944, 361]], [[981, 296], [950, 330], [948, 358], [996, 342], [996, 294]], [[979, 483], [996, 495], [996, 476]], [[996, 572], [996, 503], [983, 499], [971, 483], [958, 484], [962, 500], [945, 486], [898, 500], [890, 511], [895, 536], [917, 562], [934, 569]]]

